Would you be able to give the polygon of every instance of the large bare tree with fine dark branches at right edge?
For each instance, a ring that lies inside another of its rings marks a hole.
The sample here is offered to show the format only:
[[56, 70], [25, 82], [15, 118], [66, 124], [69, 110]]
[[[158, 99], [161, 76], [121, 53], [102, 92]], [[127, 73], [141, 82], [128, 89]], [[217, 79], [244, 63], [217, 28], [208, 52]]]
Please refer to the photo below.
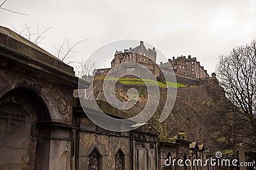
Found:
[[234, 48], [229, 55], [221, 56], [217, 66], [220, 85], [227, 98], [239, 108], [232, 113], [243, 121], [240, 133], [244, 143], [256, 141], [256, 41]]

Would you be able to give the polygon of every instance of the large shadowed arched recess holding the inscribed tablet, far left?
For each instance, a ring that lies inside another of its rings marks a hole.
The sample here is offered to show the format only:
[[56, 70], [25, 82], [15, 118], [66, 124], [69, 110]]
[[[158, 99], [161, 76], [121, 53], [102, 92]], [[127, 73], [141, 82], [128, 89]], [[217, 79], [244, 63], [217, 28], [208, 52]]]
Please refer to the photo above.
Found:
[[[34, 90], [17, 87], [0, 97], [0, 169], [36, 169], [36, 151], [47, 146], [38, 145], [40, 129], [37, 122], [51, 121], [44, 103]], [[44, 158], [47, 159], [46, 154]]]

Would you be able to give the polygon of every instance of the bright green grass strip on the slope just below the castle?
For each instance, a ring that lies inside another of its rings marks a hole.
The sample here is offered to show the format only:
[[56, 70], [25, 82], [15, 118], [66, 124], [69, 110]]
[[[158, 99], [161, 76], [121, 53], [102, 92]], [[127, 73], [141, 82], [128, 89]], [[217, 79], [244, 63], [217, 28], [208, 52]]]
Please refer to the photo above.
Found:
[[140, 78], [115, 78], [113, 76], [104, 76], [104, 77], [96, 77], [94, 80], [113, 80], [113, 81], [120, 81], [120, 83], [123, 83], [125, 85], [159, 85], [159, 87], [187, 87], [187, 85], [183, 85], [181, 83], [173, 83], [166, 81], [166, 83], [162, 83], [160, 81], [156, 80], [150, 80], [150, 79], [140, 79]]

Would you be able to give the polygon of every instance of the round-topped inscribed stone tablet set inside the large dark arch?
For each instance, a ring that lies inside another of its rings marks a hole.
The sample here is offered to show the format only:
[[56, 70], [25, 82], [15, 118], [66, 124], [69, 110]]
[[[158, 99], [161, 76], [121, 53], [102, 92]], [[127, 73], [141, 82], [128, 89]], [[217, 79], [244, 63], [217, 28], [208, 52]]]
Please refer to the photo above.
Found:
[[0, 106], [0, 169], [28, 169], [31, 120], [18, 104]]

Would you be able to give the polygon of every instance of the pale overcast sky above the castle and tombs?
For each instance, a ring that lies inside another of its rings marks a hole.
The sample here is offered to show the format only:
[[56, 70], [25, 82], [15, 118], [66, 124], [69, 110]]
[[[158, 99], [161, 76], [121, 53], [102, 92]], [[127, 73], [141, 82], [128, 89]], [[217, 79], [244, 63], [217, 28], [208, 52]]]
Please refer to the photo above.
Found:
[[[3, 0], [0, 1], [2, 3]], [[76, 60], [118, 39], [138, 39], [156, 46], [168, 58], [197, 57], [214, 71], [220, 55], [256, 38], [255, 0], [8, 0], [2, 6], [27, 13], [0, 11], [0, 25], [21, 31], [24, 24], [44, 31], [40, 46], [50, 53], [68, 38], [76, 46]], [[127, 46], [129, 48], [129, 46]], [[123, 49], [118, 49], [123, 50]]]

